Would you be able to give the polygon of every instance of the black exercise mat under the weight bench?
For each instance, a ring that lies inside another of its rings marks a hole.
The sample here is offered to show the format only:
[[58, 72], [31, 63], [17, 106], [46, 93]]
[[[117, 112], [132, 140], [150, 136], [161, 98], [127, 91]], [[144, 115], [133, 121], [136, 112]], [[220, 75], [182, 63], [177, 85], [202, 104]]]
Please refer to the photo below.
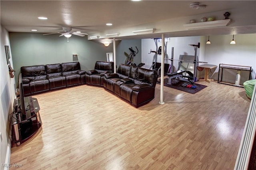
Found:
[[[174, 80], [175, 81], [175, 80]], [[167, 87], [171, 87], [173, 89], [178, 89], [178, 90], [181, 90], [181, 91], [185, 91], [185, 92], [188, 92], [188, 93], [192, 93], [192, 94], [195, 94], [196, 92], [204, 89], [205, 87], [207, 87], [206, 85], [200, 85], [200, 84], [196, 84], [194, 83], [193, 85], [196, 86], [196, 89], [191, 89], [191, 88], [187, 88], [187, 87], [182, 87], [181, 84], [184, 83], [184, 82], [179, 82], [179, 83], [176, 83], [176, 85], [169, 85], [167, 84], [168, 83], [168, 78], [164, 79], [164, 86], [167, 86]], [[172, 81], [173, 83], [173, 81]], [[160, 84], [157, 82], [157, 84]]]

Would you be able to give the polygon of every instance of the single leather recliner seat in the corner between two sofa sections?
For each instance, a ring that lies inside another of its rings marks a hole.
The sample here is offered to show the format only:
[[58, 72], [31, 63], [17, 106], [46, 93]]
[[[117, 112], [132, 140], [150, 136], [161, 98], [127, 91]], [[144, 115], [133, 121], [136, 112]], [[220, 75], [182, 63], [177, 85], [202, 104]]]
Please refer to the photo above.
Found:
[[94, 70], [86, 71], [86, 84], [103, 87], [104, 75], [113, 72], [114, 62], [96, 61]]

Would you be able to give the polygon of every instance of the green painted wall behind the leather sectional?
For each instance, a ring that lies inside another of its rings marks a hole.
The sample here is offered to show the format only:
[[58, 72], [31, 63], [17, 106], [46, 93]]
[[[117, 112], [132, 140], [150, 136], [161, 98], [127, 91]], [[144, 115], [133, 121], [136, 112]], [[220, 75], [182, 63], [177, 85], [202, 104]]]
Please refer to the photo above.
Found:
[[[67, 38], [58, 37], [60, 34], [43, 36], [42, 33], [20, 33], [9, 32], [10, 49], [12, 51], [12, 61], [16, 70], [15, 79], [18, 84], [20, 67], [28, 65], [45, 65], [54, 63], [72, 62], [73, 53], [78, 53], [78, 61], [81, 69], [94, 69], [96, 61], [106, 61], [106, 53], [113, 52], [113, 43], [108, 47], [97, 40], [88, 40], [87, 36], [72, 36], [67, 42]], [[141, 40], [122, 40], [116, 42], [116, 65], [124, 63], [129, 54], [129, 47], [141, 51]], [[134, 63], [141, 62], [141, 53], [136, 55]]]

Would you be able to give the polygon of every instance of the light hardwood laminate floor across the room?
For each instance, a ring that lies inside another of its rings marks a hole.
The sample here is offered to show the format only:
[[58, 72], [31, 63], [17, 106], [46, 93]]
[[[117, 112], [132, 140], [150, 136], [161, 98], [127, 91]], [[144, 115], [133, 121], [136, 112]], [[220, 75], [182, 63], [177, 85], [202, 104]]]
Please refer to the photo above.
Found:
[[[13, 147], [22, 169], [234, 169], [250, 105], [240, 87], [207, 85], [196, 94], [160, 85], [138, 109], [101, 87], [35, 95], [42, 129]], [[10, 170], [17, 169], [11, 167]]]

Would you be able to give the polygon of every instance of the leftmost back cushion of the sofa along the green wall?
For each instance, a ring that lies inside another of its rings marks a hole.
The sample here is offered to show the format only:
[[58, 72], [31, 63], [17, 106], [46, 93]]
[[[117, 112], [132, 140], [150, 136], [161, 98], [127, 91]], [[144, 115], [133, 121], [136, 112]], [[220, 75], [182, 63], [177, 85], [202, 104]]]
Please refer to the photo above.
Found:
[[46, 69], [45, 65], [32, 65], [20, 67], [22, 77], [29, 77], [29, 79], [45, 79]]

